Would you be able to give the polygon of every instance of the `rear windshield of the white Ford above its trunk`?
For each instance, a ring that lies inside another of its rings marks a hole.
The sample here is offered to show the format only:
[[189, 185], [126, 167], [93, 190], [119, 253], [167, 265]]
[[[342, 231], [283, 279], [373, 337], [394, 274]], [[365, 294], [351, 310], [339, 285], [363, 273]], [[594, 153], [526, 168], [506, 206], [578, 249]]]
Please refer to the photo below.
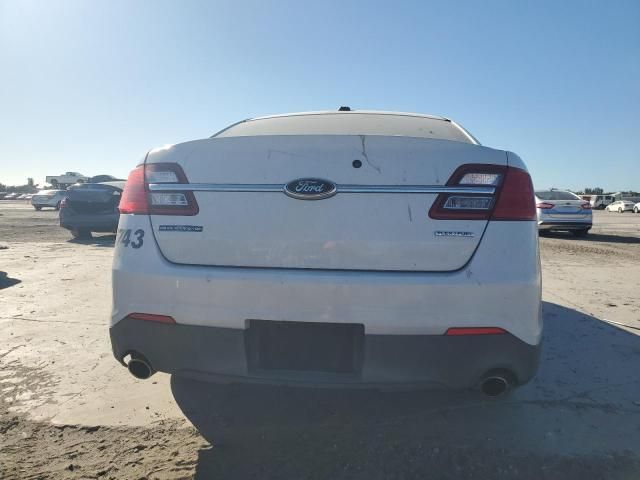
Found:
[[215, 137], [254, 135], [384, 135], [476, 143], [448, 120], [372, 113], [323, 113], [258, 118], [233, 125]]

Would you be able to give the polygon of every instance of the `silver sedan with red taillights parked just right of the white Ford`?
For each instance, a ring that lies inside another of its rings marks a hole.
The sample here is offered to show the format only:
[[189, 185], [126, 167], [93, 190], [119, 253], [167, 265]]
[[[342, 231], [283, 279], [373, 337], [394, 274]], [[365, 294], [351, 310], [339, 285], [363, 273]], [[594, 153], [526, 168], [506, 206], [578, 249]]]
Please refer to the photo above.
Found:
[[591, 204], [572, 192], [541, 190], [536, 192], [538, 231], [569, 231], [584, 237], [593, 224]]

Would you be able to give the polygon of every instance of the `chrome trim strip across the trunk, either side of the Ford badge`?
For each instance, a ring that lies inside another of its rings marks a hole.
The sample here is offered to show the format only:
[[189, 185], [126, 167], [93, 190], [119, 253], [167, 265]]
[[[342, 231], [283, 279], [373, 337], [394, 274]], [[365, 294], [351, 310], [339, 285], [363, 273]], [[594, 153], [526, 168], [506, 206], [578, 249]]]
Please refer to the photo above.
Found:
[[[150, 183], [152, 192], [278, 192], [284, 193], [280, 184], [245, 183]], [[495, 187], [465, 187], [444, 185], [337, 185], [337, 193], [466, 193], [493, 195]]]

